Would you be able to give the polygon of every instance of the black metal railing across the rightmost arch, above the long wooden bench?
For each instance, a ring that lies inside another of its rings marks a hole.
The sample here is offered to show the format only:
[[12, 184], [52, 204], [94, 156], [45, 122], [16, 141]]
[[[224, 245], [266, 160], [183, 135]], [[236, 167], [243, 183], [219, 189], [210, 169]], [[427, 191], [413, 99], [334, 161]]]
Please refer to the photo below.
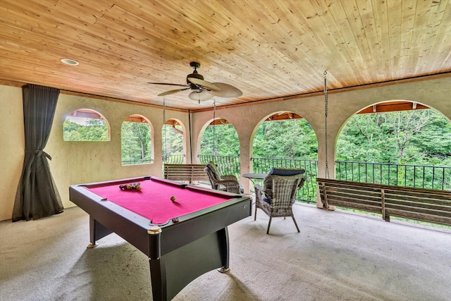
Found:
[[451, 167], [335, 161], [335, 178], [416, 188], [451, 190]]

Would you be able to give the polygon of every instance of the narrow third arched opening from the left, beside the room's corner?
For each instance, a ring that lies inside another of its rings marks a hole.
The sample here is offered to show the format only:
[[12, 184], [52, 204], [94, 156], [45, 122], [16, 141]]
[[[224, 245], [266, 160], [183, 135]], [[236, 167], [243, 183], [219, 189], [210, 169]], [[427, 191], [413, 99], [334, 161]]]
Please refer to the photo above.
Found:
[[169, 119], [161, 130], [163, 162], [184, 164], [186, 162], [185, 133], [180, 121]]

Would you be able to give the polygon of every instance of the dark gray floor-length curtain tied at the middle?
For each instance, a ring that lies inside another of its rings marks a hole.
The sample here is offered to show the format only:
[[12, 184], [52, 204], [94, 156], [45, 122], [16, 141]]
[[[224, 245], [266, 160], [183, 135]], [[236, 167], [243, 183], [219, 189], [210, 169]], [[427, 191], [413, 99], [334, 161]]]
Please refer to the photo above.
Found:
[[43, 151], [54, 121], [59, 90], [26, 85], [22, 92], [25, 159], [14, 202], [13, 221], [29, 221], [63, 212], [63, 203], [47, 161], [51, 157]]

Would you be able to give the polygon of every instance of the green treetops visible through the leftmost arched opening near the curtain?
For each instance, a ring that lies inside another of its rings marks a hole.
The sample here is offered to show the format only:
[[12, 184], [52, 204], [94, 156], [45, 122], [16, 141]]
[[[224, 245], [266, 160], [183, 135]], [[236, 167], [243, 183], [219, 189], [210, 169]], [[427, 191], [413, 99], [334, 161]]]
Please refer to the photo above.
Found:
[[103, 119], [87, 118], [85, 125], [66, 120], [63, 123], [64, 141], [108, 141], [108, 126]]

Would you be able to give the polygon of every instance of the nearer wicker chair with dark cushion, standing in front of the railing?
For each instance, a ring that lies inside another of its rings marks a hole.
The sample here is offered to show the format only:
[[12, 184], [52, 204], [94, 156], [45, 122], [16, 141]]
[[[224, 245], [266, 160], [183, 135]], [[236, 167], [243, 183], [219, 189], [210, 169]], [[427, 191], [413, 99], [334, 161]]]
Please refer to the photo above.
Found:
[[304, 179], [302, 174], [295, 176], [269, 175], [264, 179], [263, 188], [258, 184], [255, 185], [254, 221], [257, 220], [257, 208], [260, 208], [269, 216], [266, 234], [269, 234], [269, 227], [273, 217], [283, 217], [285, 219], [286, 216], [292, 217], [297, 232], [300, 232], [293, 215], [292, 205], [295, 202], [297, 190], [304, 184]]

